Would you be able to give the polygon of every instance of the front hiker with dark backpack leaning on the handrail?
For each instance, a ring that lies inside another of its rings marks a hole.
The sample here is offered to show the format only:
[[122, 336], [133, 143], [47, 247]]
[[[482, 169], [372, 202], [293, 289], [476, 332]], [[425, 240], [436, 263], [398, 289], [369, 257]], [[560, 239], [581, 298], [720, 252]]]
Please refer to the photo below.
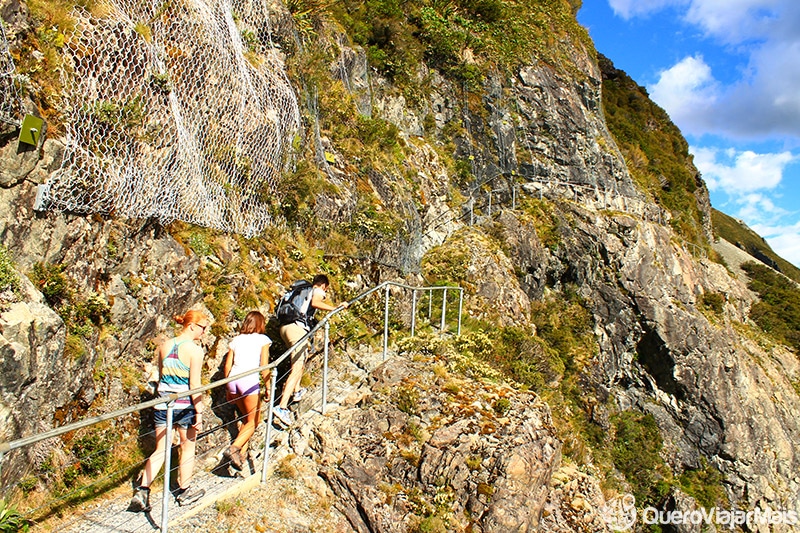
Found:
[[[311, 283], [303, 280], [292, 284], [290, 290], [278, 302], [276, 314], [280, 324], [280, 335], [286, 346], [294, 346], [311, 331], [316, 324], [314, 314], [318, 309], [333, 311], [337, 308], [325, 302], [328, 287], [330, 287], [328, 276], [317, 274]], [[341, 304], [345, 309], [348, 305], [347, 302]], [[292, 354], [292, 368], [283, 386], [280, 403], [273, 410], [277, 420], [286, 427], [292, 424], [292, 414], [288, 409], [289, 401], [299, 401], [305, 392], [305, 389], [300, 388], [300, 378], [303, 377], [307, 349], [307, 346], [303, 346]]]

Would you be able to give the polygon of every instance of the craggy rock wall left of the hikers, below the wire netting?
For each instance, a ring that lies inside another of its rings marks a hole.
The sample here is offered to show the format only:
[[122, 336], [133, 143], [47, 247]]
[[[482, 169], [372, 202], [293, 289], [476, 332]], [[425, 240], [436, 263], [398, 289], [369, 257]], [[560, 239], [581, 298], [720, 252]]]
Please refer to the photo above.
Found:
[[[96, 399], [106, 402], [103, 411], [139, 402], [155, 342], [171, 335], [172, 316], [198, 305], [201, 296], [197, 257], [157, 226], [35, 213], [35, 194], [28, 181], [0, 189], [2, 244], [25, 286], [22, 301], [0, 316], [4, 441], [68, 423]], [[107, 305], [104, 334], [76, 335], [83, 346], [77, 356], [65, 355], [68, 328], [25, 277], [36, 263], [63, 265], [76, 294], [98, 295]], [[133, 380], [127, 389], [125, 374]], [[47, 454], [36, 453], [17, 455], [13, 463], [39, 464]], [[4, 467], [3, 479], [18, 479], [15, 473]]]

